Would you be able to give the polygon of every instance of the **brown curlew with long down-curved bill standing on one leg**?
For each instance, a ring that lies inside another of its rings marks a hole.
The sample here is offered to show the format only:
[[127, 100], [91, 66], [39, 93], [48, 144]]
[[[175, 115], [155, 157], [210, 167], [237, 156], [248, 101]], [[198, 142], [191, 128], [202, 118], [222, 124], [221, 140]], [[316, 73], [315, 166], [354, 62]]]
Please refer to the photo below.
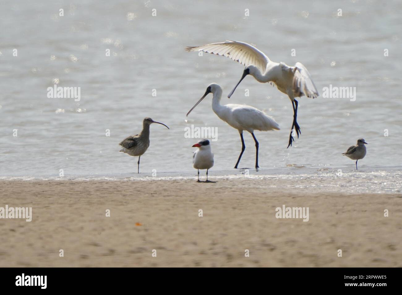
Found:
[[[131, 135], [129, 137], [126, 137], [121, 141], [119, 144], [123, 146], [123, 148], [120, 150], [123, 153], [127, 153], [130, 156], [137, 157], [138, 156], [138, 173], [139, 173], [139, 159], [141, 156], [146, 152], [148, 147], [150, 146], [150, 125], [152, 123], [156, 124], [161, 124], [163, 126], [166, 126], [163, 123], [156, 122], [152, 120], [151, 118], [144, 118], [144, 121], [142, 123], [142, 131], [140, 134], [137, 135]], [[168, 126], [166, 128], [169, 129]]]

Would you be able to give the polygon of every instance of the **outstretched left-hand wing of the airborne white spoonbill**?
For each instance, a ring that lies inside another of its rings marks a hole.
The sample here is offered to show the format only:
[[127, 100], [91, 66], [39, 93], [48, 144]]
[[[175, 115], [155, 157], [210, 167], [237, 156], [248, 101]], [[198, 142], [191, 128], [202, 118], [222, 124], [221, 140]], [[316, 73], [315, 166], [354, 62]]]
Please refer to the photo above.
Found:
[[256, 49], [254, 46], [240, 42], [226, 40], [221, 43], [211, 43], [202, 46], [186, 47], [187, 51], [204, 51], [207, 53], [213, 53], [217, 55], [223, 55], [238, 61], [244, 66], [255, 65], [260, 68], [262, 74], [265, 73], [267, 64], [270, 62], [267, 55]]

